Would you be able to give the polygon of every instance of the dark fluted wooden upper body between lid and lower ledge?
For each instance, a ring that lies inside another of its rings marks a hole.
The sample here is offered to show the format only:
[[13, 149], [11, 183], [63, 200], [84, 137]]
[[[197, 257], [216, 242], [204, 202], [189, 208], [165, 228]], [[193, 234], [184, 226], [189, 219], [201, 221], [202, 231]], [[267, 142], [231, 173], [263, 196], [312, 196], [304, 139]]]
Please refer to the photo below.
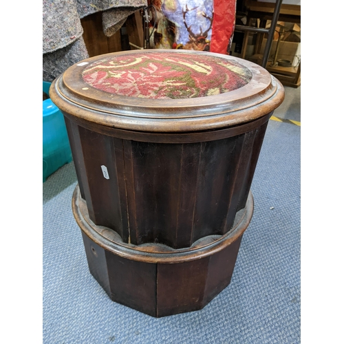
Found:
[[69, 130], [90, 219], [135, 245], [183, 248], [224, 235], [246, 204], [266, 122], [256, 125], [189, 144], [121, 140], [74, 125]]

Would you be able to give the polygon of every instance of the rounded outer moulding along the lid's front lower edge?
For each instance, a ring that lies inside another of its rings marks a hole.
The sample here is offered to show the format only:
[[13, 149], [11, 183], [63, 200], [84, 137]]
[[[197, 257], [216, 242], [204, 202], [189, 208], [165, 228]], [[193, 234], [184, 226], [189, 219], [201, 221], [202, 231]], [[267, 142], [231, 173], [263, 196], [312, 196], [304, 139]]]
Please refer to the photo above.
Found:
[[[101, 106], [96, 110], [92, 107], [76, 104], [65, 98], [58, 90], [61, 77], [54, 80], [50, 87], [50, 96], [55, 105], [74, 120], [89, 122], [90, 125], [122, 129], [128, 131], [142, 131], [145, 133], [188, 133], [228, 129], [244, 125], [274, 111], [283, 102], [284, 91], [277, 78], [271, 76], [272, 88], [268, 96], [257, 95], [237, 102], [221, 105], [213, 103], [202, 109], [184, 107], [178, 109], [182, 116], [176, 116], [177, 109], [157, 109], [158, 114], [150, 114], [148, 109], [142, 109], [142, 114], [136, 114], [133, 109], [121, 110], [111, 107], [111, 113]], [[262, 97], [262, 98], [261, 98]], [[161, 116], [159, 115], [160, 112]], [[197, 113], [199, 114], [197, 115]]]

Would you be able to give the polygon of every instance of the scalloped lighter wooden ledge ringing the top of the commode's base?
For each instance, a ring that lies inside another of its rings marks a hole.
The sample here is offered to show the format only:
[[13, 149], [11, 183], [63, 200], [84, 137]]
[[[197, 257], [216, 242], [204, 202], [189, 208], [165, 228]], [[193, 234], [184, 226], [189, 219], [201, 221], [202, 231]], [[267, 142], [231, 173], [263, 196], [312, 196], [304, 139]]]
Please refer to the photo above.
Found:
[[173, 249], [163, 244], [126, 244], [109, 228], [96, 226], [89, 219], [86, 202], [80, 196], [78, 185], [73, 193], [72, 210], [80, 229], [96, 244], [115, 255], [146, 263], [175, 264], [201, 259], [223, 250], [237, 240], [248, 227], [253, 214], [253, 197], [250, 192], [246, 206], [237, 212], [233, 228], [226, 235], [210, 235], [197, 240], [190, 248]]

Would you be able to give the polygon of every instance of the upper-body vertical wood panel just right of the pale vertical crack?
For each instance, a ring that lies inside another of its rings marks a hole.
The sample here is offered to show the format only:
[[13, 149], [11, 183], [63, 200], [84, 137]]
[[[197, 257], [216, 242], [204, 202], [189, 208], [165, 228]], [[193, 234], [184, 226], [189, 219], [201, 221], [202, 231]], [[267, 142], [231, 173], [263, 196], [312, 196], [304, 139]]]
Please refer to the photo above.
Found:
[[130, 226], [137, 244], [175, 244], [181, 153], [182, 144], [131, 141], [133, 190], [128, 197], [135, 197], [136, 223]]

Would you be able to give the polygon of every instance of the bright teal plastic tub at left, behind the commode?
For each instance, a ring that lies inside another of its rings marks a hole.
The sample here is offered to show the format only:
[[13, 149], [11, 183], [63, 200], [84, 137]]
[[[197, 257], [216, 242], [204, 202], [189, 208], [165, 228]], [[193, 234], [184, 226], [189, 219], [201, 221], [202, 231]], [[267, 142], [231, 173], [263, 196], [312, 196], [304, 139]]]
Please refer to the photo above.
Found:
[[[51, 83], [43, 81], [43, 92], [49, 94]], [[43, 100], [43, 182], [61, 166], [72, 161], [65, 120], [52, 100]]]

